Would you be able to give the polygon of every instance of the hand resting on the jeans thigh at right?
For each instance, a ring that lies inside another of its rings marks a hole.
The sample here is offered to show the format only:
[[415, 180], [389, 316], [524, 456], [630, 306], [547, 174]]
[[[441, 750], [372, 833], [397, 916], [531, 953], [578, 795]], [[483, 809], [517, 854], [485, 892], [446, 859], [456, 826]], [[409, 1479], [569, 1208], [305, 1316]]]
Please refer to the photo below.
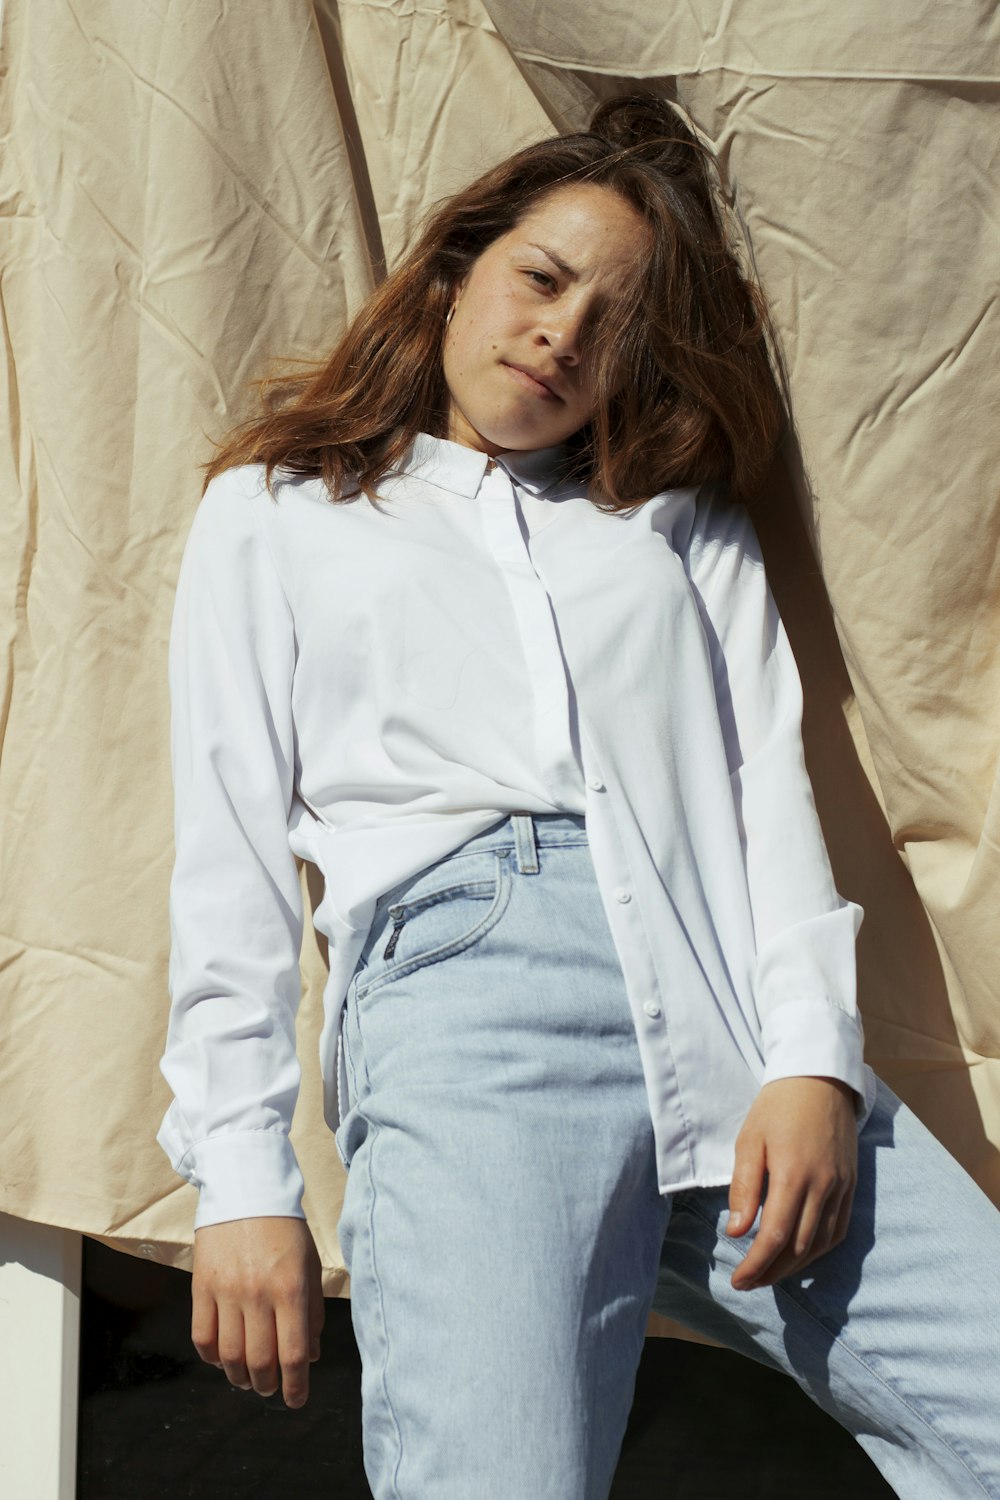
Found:
[[858, 1182], [855, 1092], [840, 1078], [766, 1083], [736, 1137], [727, 1234], [745, 1234], [760, 1206], [753, 1246], [732, 1275], [738, 1292], [802, 1270], [847, 1234]]

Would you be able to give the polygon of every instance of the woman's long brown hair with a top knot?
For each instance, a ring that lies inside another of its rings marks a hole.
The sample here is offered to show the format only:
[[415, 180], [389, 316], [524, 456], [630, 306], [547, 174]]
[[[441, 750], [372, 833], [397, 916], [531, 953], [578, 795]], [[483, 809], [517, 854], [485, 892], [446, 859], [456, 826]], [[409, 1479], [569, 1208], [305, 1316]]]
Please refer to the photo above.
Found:
[[255, 384], [264, 414], [204, 465], [319, 476], [331, 501], [376, 496], [417, 432], [447, 435], [442, 372], [453, 288], [477, 256], [553, 189], [613, 189], [651, 228], [651, 250], [588, 334], [594, 417], [568, 440], [601, 510], [723, 480], [748, 500], [783, 424], [774, 330], [738, 262], [712, 153], [655, 93], [603, 102], [586, 130], [516, 152], [436, 206], [415, 246], [360, 308], [324, 362]]

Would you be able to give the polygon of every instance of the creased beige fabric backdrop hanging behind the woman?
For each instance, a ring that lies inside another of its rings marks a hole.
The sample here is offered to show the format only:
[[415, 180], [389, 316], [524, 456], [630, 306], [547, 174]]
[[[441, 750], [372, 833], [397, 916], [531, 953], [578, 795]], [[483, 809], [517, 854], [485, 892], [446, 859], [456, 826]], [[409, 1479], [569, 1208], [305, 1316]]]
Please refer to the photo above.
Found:
[[[1000, 1202], [999, 39], [988, 0], [7, 0], [0, 1210], [190, 1263], [153, 1136], [204, 434], [333, 342], [432, 200], [630, 78], [718, 144], [784, 342], [757, 522], [867, 909], [868, 1059]], [[307, 926], [294, 1138], [336, 1292], [324, 975]]]

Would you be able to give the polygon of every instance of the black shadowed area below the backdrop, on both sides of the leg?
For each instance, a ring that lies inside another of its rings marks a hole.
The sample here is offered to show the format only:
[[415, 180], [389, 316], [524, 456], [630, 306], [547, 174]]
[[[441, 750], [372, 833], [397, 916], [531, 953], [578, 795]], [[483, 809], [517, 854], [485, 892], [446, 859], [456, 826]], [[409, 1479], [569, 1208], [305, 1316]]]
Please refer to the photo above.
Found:
[[[280, 1395], [234, 1390], [198, 1359], [189, 1324], [184, 1272], [84, 1238], [78, 1500], [370, 1500], [346, 1302], [327, 1302], [322, 1359], [298, 1412]], [[892, 1500], [894, 1491], [792, 1380], [726, 1350], [648, 1340], [613, 1500], [732, 1496]]]

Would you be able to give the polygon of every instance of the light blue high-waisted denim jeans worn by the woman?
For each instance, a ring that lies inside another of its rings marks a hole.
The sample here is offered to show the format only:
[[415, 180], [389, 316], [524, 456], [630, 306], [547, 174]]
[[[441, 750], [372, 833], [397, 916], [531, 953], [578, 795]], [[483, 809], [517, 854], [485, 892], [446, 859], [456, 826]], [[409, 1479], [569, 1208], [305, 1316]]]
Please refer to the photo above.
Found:
[[385, 892], [345, 1050], [375, 1500], [606, 1500], [654, 1306], [787, 1371], [906, 1500], [1000, 1500], [1000, 1214], [880, 1084], [847, 1239], [735, 1292], [727, 1188], [657, 1190], [582, 816]]

